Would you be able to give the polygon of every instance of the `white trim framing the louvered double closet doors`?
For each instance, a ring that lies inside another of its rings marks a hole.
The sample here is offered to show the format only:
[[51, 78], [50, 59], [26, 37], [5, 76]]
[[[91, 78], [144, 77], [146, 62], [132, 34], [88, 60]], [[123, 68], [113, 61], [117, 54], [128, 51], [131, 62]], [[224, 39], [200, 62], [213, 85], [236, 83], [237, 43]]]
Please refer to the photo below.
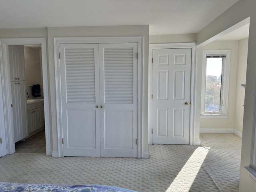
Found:
[[142, 72], [143, 72], [144, 37], [54, 37], [54, 68], [56, 86], [58, 157], [63, 157], [62, 145], [62, 105], [60, 84], [60, 43], [138, 43], [138, 158], [143, 158], [142, 129]]

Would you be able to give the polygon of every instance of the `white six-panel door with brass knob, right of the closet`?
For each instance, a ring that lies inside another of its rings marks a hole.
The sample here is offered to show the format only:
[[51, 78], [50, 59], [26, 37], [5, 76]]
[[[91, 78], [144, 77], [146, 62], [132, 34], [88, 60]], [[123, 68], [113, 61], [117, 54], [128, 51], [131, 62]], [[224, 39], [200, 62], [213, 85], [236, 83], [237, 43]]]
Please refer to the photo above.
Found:
[[190, 48], [153, 50], [153, 144], [189, 144], [190, 69]]

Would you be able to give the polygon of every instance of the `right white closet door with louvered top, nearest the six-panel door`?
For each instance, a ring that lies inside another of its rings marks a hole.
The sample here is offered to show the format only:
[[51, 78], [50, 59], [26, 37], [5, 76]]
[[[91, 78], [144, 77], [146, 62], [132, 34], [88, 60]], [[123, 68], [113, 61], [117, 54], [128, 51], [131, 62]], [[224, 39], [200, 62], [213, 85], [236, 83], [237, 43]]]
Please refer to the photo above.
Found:
[[138, 44], [99, 44], [100, 156], [137, 157]]

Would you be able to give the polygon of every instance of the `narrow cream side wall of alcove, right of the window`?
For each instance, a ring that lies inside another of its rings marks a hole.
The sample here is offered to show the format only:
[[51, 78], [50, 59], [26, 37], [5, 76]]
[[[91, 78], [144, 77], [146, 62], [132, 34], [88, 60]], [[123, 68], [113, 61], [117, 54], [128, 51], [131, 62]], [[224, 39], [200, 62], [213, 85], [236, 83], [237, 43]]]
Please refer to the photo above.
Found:
[[234, 117], [234, 133], [242, 137], [244, 119], [244, 95], [245, 88], [241, 84], [246, 82], [248, 38], [238, 41], [238, 57], [236, 72], [236, 102]]

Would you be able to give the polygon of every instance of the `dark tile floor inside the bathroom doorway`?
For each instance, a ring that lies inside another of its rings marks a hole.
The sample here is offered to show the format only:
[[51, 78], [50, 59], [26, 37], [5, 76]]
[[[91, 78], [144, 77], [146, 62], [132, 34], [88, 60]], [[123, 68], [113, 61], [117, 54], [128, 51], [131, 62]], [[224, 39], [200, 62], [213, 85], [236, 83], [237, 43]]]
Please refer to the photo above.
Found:
[[15, 143], [16, 153], [46, 153], [45, 131], [42, 130], [37, 134]]

